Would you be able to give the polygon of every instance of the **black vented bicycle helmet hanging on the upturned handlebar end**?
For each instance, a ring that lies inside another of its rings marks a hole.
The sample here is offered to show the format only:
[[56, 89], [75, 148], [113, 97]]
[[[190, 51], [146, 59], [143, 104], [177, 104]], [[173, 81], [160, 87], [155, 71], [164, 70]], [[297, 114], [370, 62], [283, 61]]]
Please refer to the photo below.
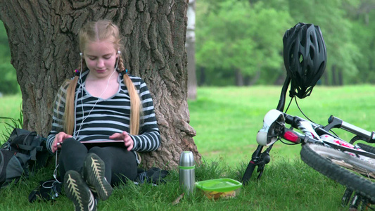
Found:
[[284, 65], [291, 77], [290, 96], [305, 98], [326, 68], [326, 44], [319, 26], [298, 23], [283, 37]]

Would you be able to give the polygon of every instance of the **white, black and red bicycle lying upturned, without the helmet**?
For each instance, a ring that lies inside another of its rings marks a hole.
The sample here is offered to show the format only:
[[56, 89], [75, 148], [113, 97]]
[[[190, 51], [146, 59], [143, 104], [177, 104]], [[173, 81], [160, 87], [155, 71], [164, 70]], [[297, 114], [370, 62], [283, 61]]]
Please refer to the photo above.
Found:
[[[364, 143], [353, 144], [358, 140], [375, 143], [375, 133], [332, 115], [328, 124], [323, 126], [282, 112], [289, 82], [290, 78], [287, 77], [281, 90], [278, 108], [269, 110], [264, 117], [263, 127], [257, 134], [258, 148], [243, 174], [243, 184], [248, 183], [255, 167], [258, 167], [260, 179], [265, 165], [270, 161], [269, 151], [276, 141], [282, 139], [301, 144], [300, 156], [303, 162], [347, 187], [342, 199], [343, 205], [348, 205], [351, 197], [351, 207], [359, 207], [361, 203], [362, 206], [374, 204], [375, 148]], [[291, 101], [293, 98], [295, 96]], [[355, 136], [347, 142], [331, 132], [333, 128], [343, 129]], [[267, 150], [262, 152], [264, 147], [267, 147]]]

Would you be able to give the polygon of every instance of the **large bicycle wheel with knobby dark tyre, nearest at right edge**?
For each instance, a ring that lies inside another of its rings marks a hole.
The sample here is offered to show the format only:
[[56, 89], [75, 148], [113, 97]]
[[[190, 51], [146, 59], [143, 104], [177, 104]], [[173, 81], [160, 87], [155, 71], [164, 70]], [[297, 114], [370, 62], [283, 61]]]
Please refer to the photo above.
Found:
[[317, 172], [375, 203], [375, 159], [361, 160], [348, 153], [314, 143], [304, 144], [300, 155], [303, 162]]

